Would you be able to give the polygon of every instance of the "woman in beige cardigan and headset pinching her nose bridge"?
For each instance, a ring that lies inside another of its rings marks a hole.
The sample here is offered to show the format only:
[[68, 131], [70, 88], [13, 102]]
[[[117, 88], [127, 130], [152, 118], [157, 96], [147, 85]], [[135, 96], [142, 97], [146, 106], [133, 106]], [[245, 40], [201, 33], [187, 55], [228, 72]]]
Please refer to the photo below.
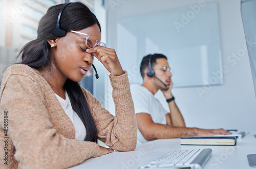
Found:
[[[96, 16], [81, 3], [50, 7], [41, 18], [37, 39], [23, 47], [22, 61], [1, 81], [0, 168], [67, 168], [136, 148], [127, 72], [100, 39]], [[78, 84], [94, 57], [110, 72], [115, 116]], [[98, 146], [98, 139], [110, 149]]]

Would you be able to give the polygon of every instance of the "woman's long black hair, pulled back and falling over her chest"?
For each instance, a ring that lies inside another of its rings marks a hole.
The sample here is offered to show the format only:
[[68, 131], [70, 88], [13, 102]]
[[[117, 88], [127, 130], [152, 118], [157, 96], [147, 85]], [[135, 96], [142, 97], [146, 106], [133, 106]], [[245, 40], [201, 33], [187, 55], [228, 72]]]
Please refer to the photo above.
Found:
[[[65, 9], [62, 9], [65, 5]], [[79, 31], [95, 24], [100, 29], [100, 24], [96, 16], [82, 3], [76, 2], [69, 3], [68, 5], [59, 4], [52, 6], [38, 23], [37, 39], [27, 43], [18, 54], [18, 56], [22, 56], [21, 64], [26, 64], [32, 68], [42, 68], [50, 65], [51, 46], [47, 40], [54, 40], [61, 37], [59, 36], [60, 34], [52, 34], [53, 30], [56, 29], [57, 21], [60, 23], [57, 25], [57, 29], [63, 30], [61, 35], [65, 33], [64, 36], [66, 36], [66, 32], [71, 30]], [[64, 88], [69, 95], [73, 110], [78, 114], [86, 127], [87, 134], [84, 140], [97, 142], [96, 125], [80, 85], [77, 82], [67, 79]]]

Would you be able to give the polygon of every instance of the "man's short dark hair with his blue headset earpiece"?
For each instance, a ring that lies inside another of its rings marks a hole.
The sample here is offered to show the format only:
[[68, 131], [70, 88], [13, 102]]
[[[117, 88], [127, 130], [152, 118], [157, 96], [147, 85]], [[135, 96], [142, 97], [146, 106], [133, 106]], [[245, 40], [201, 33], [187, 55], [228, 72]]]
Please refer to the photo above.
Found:
[[[149, 77], [153, 77], [153, 69], [152, 67], [155, 66], [156, 64], [156, 60], [159, 59], [159, 58], [164, 58], [164, 59], [167, 59], [166, 56], [162, 55], [162, 54], [153, 54], [153, 55], [147, 55], [147, 56], [144, 56], [142, 61], [141, 61], [141, 64], [140, 64], [140, 74], [142, 76], [142, 78], [144, 79], [145, 77], [145, 74], [144, 74], [144, 70], [146, 68], [149, 68], [148, 71], [147, 71], [147, 74], [149, 75]], [[150, 63], [151, 61], [151, 63]]]

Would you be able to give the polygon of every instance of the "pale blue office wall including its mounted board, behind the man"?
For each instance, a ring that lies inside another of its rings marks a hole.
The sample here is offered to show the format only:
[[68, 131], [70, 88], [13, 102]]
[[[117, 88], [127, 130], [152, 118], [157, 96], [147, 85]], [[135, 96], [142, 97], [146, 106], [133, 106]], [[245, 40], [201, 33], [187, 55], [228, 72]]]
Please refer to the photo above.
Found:
[[[174, 70], [172, 92], [188, 127], [255, 130], [256, 54], [249, 59], [247, 52], [256, 48], [255, 0], [243, 1], [247, 20], [240, 0], [115, 2], [107, 8], [107, 44], [117, 50], [131, 84], [142, 82], [143, 56], [163, 53]], [[252, 22], [246, 38], [243, 22]], [[168, 110], [161, 91], [156, 97]], [[112, 100], [105, 106], [114, 112]]]

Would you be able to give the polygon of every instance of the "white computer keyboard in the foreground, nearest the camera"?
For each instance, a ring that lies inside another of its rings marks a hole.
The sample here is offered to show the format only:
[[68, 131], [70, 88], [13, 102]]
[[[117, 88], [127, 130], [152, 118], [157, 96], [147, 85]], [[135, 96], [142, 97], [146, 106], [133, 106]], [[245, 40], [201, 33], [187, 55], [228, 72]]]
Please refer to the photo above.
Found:
[[181, 150], [167, 153], [140, 168], [190, 167], [201, 169], [212, 153], [211, 149]]

